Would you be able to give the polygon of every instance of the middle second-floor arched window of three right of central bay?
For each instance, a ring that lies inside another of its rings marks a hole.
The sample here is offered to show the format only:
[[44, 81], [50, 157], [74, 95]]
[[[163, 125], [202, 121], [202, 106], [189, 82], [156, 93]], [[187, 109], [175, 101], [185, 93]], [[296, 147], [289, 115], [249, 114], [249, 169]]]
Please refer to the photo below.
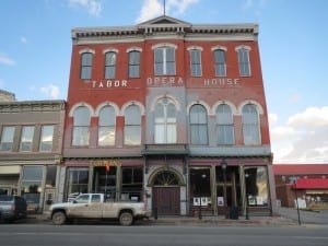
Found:
[[216, 108], [216, 143], [234, 144], [233, 115], [227, 104], [221, 104]]

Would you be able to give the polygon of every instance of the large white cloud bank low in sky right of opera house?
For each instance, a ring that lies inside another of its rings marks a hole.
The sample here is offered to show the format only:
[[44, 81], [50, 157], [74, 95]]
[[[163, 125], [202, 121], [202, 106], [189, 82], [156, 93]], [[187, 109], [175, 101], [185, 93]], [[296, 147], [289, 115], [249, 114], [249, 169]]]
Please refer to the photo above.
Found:
[[328, 107], [308, 107], [270, 126], [270, 138], [274, 163], [327, 163]]

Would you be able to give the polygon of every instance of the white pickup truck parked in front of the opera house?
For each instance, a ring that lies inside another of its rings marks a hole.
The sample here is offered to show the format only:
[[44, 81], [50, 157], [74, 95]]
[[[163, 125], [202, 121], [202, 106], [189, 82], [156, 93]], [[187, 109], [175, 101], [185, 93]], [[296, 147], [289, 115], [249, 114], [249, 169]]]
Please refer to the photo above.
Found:
[[72, 202], [55, 203], [49, 210], [57, 225], [75, 219], [110, 219], [118, 220], [121, 225], [131, 225], [150, 215], [144, 202], [105, 201], [103, 194], [81, 194]]

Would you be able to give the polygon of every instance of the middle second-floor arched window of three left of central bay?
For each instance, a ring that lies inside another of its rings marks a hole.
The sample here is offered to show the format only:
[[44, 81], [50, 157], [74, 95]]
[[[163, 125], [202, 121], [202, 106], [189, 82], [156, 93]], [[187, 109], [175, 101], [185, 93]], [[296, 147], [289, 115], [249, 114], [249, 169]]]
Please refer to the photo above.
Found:
[[115, 145], [116, 114], [113, 106], [104, 106], [99, 110], [98, 145]]

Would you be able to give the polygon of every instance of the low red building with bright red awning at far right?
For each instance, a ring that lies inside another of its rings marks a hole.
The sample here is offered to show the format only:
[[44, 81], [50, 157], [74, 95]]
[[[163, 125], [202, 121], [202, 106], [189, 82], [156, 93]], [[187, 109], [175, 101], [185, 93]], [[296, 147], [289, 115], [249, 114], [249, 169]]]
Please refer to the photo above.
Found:
[[274, 164], [273, 172], [282, 207], [295, 206], [295, 189], [307, 206], [328, 202], [328, 164]]

